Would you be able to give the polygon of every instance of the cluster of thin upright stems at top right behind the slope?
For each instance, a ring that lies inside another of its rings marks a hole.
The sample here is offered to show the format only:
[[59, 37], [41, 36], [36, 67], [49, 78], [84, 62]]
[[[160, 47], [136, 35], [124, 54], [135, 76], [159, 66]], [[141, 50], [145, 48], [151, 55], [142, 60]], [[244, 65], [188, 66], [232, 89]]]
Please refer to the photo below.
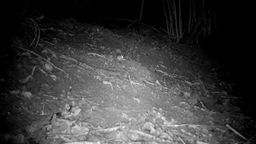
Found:
[[162, 0], [162, 9], [166, 18], [166, 29], [162, 30], [176, 42], [198, 42], [216, 28], [213, 1]]

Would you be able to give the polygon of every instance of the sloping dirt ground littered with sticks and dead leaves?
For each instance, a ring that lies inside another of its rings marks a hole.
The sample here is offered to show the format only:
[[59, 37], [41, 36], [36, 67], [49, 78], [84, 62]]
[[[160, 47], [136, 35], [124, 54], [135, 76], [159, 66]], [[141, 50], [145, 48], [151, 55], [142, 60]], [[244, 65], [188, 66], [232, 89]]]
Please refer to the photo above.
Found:
[[74, 20], [38, 36], [1, 55], [1, 143], [255, 142], [255, 123], [196, 46]]

